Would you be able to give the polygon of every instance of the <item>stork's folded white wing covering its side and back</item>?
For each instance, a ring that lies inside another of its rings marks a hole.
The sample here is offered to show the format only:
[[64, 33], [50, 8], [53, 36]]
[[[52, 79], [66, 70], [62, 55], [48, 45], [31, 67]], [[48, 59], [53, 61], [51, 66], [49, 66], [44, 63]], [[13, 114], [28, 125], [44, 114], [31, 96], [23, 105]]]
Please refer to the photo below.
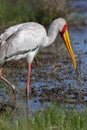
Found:
[[6, 59], [37, 50], [43, 43], [46, 32], [37, 24], [24, 24], [11, 34], [6, 41]]

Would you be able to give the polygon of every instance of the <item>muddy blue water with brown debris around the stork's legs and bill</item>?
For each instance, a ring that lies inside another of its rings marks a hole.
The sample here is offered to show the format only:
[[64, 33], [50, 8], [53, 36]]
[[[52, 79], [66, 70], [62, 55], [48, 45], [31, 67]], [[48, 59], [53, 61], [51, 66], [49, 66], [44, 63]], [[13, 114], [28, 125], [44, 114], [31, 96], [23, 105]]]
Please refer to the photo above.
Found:
[[12, 63], [11, 67], [6, 64], [5, 67], [8, 65], [10, 71], [6, 68], [7, 75], [6, 71], [4, 74], [17, 89], [16, 104], [12, 94], [8, 96], [8, 91], [4, 90], [0, 92], [1, 102], [9, 106], [9, 109], [13, 109], [13, 105], [10, 104], [15, 104], [17, 114], [21, 108], [25, 114], [27, 107], [29, 112], [44, 108], [50, 101], [79, 103], [77, 108], [81, 108], [81, 103], [87, 102], [87, 1], [79, 0], [79, 3], [78, 0], [69, 1], [68, 6], [71, 8], [68, 19], [72, 19], [75, 25], [70, 26], [69, 33], [77, 60], [77, 71], [74, 70], [65, 46], [58, 37], [59, 40], [43, 49], [32, 64], [31, 95], [26, 105], [26, 63], [25, 61], [20, 61], [19, 65]]

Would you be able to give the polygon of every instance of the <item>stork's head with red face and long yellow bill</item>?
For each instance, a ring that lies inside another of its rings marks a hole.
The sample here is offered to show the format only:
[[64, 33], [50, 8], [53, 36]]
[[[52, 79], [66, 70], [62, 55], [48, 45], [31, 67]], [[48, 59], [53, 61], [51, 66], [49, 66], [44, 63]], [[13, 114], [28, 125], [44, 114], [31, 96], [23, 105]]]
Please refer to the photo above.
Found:
[[59, 19], [59, 32], [63, 38], [63, 41], [65, 43], [65, 46], [66, 46], [68, 52], [70, 54], [73, 66], [76, 69], [76, 60], [75, 60], [75, 56], [74, 56], [74, 53], [72, 50], [70, 38], [69, 38], [68, 27], [67, 27], [66, 21], [62, 18]]

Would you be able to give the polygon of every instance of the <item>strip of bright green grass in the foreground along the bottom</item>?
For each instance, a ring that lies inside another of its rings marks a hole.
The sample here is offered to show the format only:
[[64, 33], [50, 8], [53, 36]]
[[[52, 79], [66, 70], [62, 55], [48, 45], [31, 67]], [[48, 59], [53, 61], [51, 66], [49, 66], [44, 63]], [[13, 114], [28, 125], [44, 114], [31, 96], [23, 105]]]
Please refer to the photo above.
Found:
[[[8, 115], [7, 115], [8, 116]], [[0, 116], [0, 130], [86, 130], [87, 110], [77, 111], [51, 105], [46, 110], [37, 111], [33, 117], [12, 121], [12, 116]]]

